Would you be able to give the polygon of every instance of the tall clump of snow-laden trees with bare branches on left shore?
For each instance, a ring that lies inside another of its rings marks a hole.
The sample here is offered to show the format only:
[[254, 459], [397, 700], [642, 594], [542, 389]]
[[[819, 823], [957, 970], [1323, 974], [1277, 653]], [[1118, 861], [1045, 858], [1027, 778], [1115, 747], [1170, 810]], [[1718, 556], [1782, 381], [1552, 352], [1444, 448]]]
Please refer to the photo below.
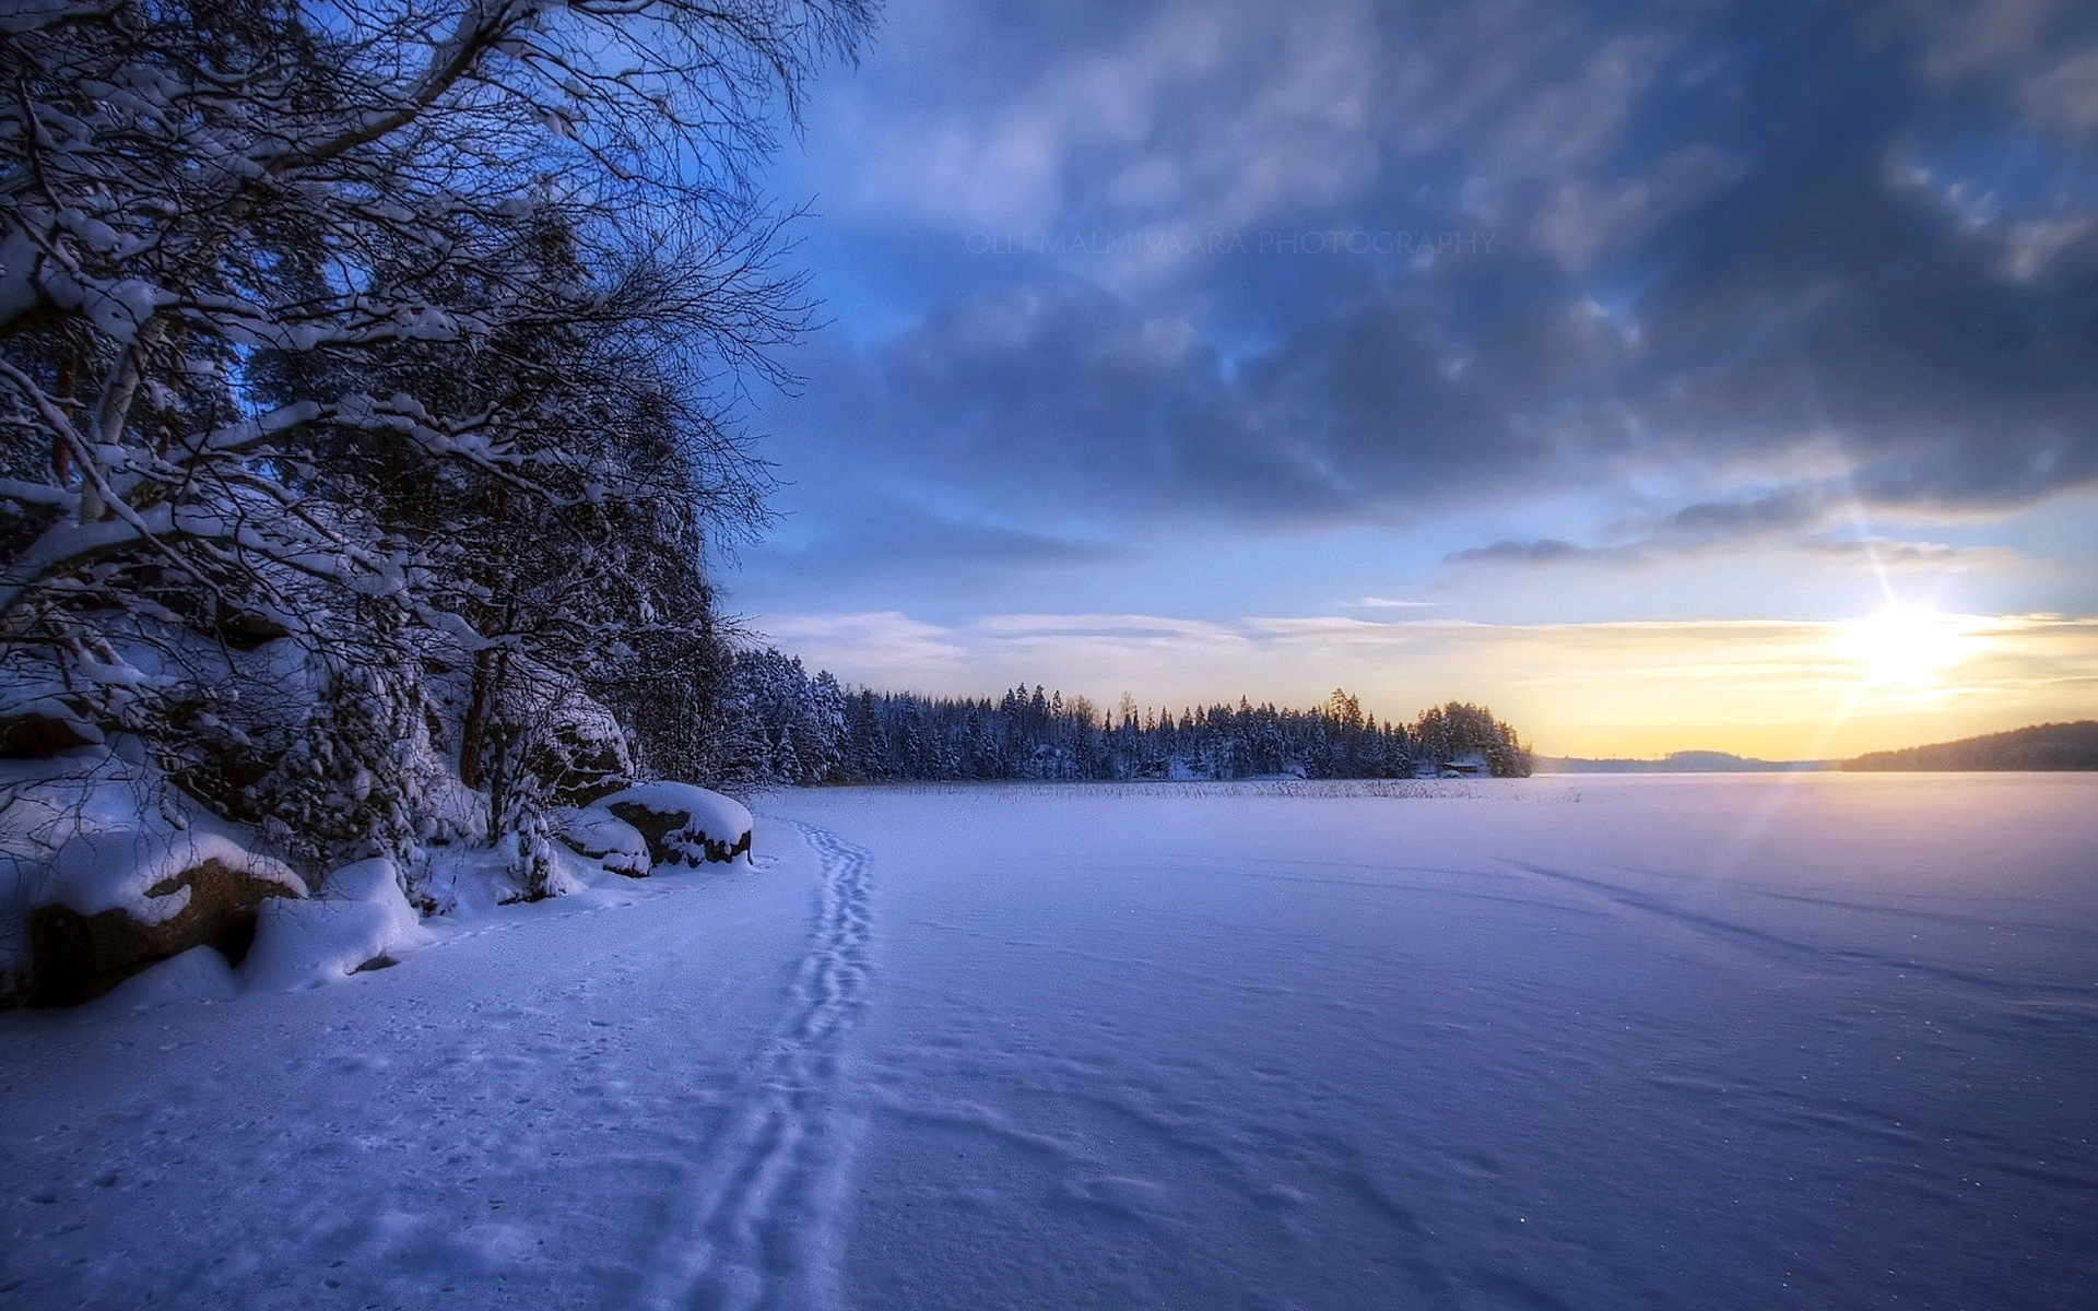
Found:
[[[734, 396], [810, 313], [749, 162], [869, 6], [0, 23], [0, 713], [138, 732], [279, 822], [355, 795], [336, 829], [388, 841], [418, 753], [529, 829], [575, 707], [673, 761], [634, 688], [711, 709], [701, 552], [764, 495]], [[311, 696], [241, 722], [277, 642]], [[271, 785], [273, 743], [317, 772]]]

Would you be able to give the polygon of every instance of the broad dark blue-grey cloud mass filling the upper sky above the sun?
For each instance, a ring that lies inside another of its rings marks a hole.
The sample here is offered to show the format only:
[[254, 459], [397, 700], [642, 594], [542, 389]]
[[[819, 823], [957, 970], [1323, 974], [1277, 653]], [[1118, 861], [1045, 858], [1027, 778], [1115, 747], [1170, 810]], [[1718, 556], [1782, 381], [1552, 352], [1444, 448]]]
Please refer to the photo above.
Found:
[[[1571, 493], [1586, 531], [1456, 558], [1821, 550], [1838, 501], [2092, 485], [2088, 13], [902, 4], [818, 151], [862, 241], [827, 277], [938, 292], [841, 310], [866, 348], [810, 380], [839, 566], [908, 550], [864, 485], [938, 508], [913, 558], [978, 571]], [[1250, 241], [967, 245], [1066, 227]], [[1263, 254], [1278, 227], [1494, 241]], [[1653, 478], [1687, 503], [1620, 524]]]

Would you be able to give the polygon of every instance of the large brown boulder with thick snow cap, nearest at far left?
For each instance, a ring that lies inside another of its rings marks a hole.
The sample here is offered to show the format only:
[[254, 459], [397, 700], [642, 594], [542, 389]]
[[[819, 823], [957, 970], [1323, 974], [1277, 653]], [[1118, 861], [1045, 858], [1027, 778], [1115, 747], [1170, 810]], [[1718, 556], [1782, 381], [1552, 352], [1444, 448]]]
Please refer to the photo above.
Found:
[[302, 898], [290, 868], [208, 833], [84, 833], [59, 850], [29, 912], [31, 1007], [71, 1007], [197, 946], [245, 959], [266, 898]]

